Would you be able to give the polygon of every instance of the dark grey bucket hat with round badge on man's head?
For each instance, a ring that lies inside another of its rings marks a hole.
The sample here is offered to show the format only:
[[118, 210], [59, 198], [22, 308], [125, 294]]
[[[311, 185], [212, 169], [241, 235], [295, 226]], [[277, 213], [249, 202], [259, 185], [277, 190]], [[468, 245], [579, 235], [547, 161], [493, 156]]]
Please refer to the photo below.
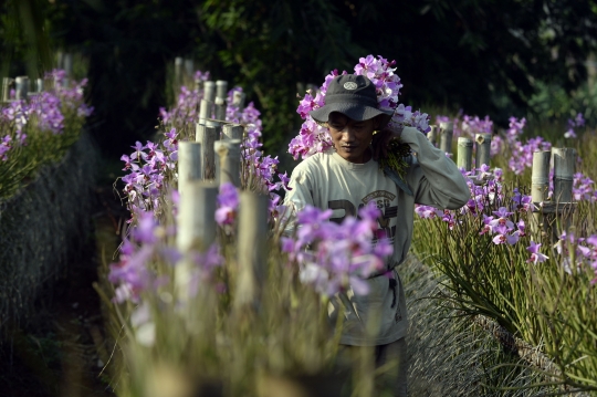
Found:
[[339, 112], [358, 122], [381, 115], [380, 128], [386, 126], [394, 114], [394, 109], [378, 107], [371, 81], [355, 74], [334, 77], [325, 93], [325, 105], [310, 114], [316, 122], [326, 123], [332, 112]]

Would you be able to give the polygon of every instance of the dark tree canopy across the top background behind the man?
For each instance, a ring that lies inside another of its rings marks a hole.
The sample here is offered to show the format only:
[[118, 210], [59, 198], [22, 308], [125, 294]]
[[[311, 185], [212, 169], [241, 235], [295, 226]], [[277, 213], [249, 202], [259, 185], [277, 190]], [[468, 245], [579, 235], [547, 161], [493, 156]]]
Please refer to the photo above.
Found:
[[296, 133], [296, 84], [359, 56], [396, 60], [408, 104], [504, 122], [526, 114], [540, 83], [586, 82], [597, 38], [594, 0], [54, 0], [43, 11], [51, 42], [90, 59], [96, 135], [115, 155], [154, 130], [179, 55], [243, 86], [279, 148]]

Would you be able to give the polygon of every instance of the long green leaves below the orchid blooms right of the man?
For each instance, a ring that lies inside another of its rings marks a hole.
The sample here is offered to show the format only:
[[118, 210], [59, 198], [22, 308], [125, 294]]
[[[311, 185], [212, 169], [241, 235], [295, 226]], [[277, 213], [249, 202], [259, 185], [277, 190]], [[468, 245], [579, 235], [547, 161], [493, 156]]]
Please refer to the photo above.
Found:
[[[479, 224], [461, 218], [460, 231], [449, 232], [441, 220], [419, 221], [413, 241], [419, 255], [450, 280], [453, 302], [470, 315], [498, 321], [524, 341], [542, 346], [559, 369], [561, 382], [597, 387], [597, 303], [590, 269], [567, 274], [557, 260], [528, 264], [527, 239], [515, 247], [494, 247], [479, 237]], [[455, 229], [454, 229], [455, 230]], [[431, 241], [438, 241], [434, 247]], [[426, 247], [426, 248], [423, 248]], [[545, 368], [541, 368], [544, 369]], [[555, 376], [555, 375], [554, 375]]]

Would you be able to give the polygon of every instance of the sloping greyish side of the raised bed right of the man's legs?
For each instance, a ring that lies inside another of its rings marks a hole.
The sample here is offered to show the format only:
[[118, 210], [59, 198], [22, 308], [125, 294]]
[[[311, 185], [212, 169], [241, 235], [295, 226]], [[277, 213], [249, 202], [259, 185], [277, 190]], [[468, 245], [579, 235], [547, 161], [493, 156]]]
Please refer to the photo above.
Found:
[[526, 397], [557, 391], [547, 386], [530, 387], [548, 379], [486, 327], [450, 307], [440, 280], [415, 255], [400, 267], [400, 274], [410, 316], [410, 396]]

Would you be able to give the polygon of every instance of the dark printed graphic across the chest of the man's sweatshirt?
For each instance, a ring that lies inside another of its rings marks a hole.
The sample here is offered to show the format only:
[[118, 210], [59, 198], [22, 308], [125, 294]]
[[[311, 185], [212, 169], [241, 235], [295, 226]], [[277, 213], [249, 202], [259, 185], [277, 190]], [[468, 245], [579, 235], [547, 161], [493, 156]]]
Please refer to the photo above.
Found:
[[[391, 219], [398, 216], [398, 206], [392, 206], [392, 201], [396, 199], [396, 195], [387, 190], [376, 190], [366, 195], [362, 199], [362, 203], [358, 205], [358, 209], [370, 205], [371, 202], [381, 211], [381, 215], [377, 218], [378, 229], [375, 232], [374, 243], [383, 238], [389, 238], [394, 243], [394, 237], [396, 236], [396, 221], [391, 224]], [[342, 217], [331, 218], [333, 222], [342, 223], [346, 217], [357, 217], [358, 210], [355, 205], [348, 200], [329, 200], [327, 201], [327, 208], [332, 210], [344, 210]]]

